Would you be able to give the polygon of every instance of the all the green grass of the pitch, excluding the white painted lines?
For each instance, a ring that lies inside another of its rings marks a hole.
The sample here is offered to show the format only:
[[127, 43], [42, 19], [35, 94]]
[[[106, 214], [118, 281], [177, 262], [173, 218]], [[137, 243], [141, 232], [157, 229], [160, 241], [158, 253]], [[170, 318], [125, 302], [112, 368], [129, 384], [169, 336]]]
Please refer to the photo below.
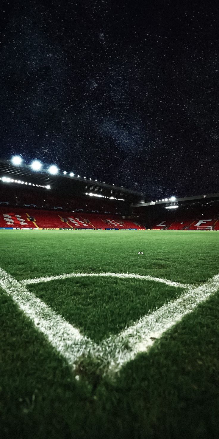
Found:
[[[199, 283], [218, 273], [216, 232], [4, 231], [0, 266], [16, 279], [130, 272]], [[144, 256], [138, 256], [143, 251]], [[83, 278], [28, 287], [99, 340], [180, 294], [133, 279]], [[212, 296], [114, 380], [71, 368], [0, 291], [1, 437], [216, 438], [219, 299]]]

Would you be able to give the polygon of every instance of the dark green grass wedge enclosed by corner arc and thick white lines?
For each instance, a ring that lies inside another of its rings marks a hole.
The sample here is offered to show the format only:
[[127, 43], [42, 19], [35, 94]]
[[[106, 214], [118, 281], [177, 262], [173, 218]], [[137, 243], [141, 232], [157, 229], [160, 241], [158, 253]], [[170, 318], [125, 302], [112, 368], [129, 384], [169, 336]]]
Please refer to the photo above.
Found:
[[[180, 288], [136, 279], [66, 279], [30, 285], [29, 290], [85, 335], [99, 342], [174, 300]], [[98, 322], [98, 324], [97, 324]]]

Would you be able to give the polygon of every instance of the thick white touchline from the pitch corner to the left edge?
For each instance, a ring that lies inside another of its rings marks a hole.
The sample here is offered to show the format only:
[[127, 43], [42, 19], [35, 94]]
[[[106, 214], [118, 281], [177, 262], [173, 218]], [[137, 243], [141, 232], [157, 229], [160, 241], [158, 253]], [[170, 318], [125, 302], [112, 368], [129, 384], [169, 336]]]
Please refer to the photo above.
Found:
[[73, 366], [81, 355], [97, 350], [90, 338], [81, 335], [77, 328], [55, 313], [25, 285], [0, 268], [0, 287], [11, 296], [18, 307], [32, 320], [51, 345]]

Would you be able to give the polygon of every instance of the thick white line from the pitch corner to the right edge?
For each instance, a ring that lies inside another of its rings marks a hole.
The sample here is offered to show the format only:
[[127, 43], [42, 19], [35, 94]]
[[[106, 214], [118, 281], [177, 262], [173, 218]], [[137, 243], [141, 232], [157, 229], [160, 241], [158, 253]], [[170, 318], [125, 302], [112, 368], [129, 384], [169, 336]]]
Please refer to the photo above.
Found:
[[145, 315], [119, 335], [109, 337], [104, 341], [104, 345], [106, 344], [111, 351], [109, 370], [117, 372], [138, 353], [147, 352], [164, 332], [179, 323], [184, 316], [192, 313], [201, 302], [218, 290], [219, 274], [216, 274], [197, 288], [189, 287], [177, 300], [168, 302], [153, 313]]

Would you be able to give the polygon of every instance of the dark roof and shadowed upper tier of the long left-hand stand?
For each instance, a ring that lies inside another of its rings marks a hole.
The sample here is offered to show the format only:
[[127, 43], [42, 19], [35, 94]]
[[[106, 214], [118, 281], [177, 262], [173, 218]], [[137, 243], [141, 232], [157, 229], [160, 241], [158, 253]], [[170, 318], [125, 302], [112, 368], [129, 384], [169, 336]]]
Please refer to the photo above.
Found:
[[0, 162], [1, 204], [130, 215], [131, 203], [145, 201], [143, 194], [123, 187]]

